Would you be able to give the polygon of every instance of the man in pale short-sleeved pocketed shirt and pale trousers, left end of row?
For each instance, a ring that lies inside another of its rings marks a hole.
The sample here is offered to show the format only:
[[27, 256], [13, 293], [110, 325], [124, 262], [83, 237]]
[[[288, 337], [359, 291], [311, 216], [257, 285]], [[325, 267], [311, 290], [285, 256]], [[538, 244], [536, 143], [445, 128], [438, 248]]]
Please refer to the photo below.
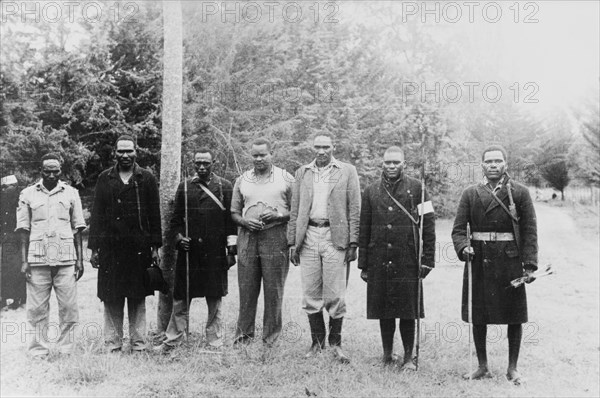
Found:
[[58, 301], [57, 348], [61, 354], [72, 352], [79, 321], [76, 282], [83, 275], [81, 231], [85, 220], [79, 193], [58, 179], [61, 163], [57, 155], [42, 157], [42, 179], [21, 192], [17, 209], [21, 272], [27, 280], [27, 321], [35, 329], [28, 351], [34, 359], [46, 359], [50, 352], [52, 288]]

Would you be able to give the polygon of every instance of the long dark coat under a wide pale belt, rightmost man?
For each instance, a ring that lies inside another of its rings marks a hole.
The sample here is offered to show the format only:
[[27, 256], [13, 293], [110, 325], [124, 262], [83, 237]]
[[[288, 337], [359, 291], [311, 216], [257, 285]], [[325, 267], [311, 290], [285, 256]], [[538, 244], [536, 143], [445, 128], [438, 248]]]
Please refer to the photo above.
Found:
[[[509, 207], [506, 180], [496, 195]], [[523, 276], [523, 264], [537, 269], [537, 221], [527, 187], [512, 180], [511, 192], [519, 215], [521, 255], [514, 241], [471, 241], [475, 258], [473, 274], [473, 324], [520, 324], [527, 322], [525, 286], [507, 288]], [[471, 232], [513, 232], [511, 218], [486, 191], [483, 184], [463, 191], [452, 228], [452, 241], [459, 257], [467, 246], [467, 222]], [[464, 258], [460, 257], [462, 261]], [[468, 321], [468, 273], [465, 265], [462, 291], [462, 319]]]

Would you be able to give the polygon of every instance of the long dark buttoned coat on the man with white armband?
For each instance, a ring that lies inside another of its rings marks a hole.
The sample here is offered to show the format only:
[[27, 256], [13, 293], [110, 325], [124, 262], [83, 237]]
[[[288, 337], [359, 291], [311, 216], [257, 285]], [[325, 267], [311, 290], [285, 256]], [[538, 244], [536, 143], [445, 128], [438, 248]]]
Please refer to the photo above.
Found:
[[[392, 201], [384, 186], [413, 218], [421, 202], [420, 181], [402, 176], [395, 183], [379, 179], [369, 185], [362, 197], [358, 267], [368, 270], [367, 318], [417, 318], [418, 226]], [[425, 201], [429, 195], [425, 193]], [[435, 259], [435, 217], [423, 220], [423, 265], [433, 267]], [[421, 313], [423, 289], [421, 289]]]

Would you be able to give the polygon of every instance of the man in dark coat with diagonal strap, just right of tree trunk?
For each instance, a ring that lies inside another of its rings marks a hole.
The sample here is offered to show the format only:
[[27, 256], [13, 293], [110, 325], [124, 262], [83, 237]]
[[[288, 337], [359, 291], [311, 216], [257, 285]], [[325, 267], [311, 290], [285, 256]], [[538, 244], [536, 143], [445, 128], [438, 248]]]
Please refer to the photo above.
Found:
[[[194, 297], [206, 297], [208, 345], [213, 348], [223, 345], [221, 298], [227, 295], [227, 271], [235, 264], [237, 228], [230, 212], [233, 186], [211, 172], [214, 162], [210, 149], [198, 149], [194, 155], [194, 167], [198, 175], [187, 181], [187, 187], [182, 182], [177, 189], [175, 210], [171, 218], [172, 232], [176, 235], [179, 249], [173, 312], [166, 340], [156, 348], [159, 351], [167, 351], [181, 342], [188, 326], [188, 308]], [[186, 252], [189, 253], [189, 297], [186, 297]]]

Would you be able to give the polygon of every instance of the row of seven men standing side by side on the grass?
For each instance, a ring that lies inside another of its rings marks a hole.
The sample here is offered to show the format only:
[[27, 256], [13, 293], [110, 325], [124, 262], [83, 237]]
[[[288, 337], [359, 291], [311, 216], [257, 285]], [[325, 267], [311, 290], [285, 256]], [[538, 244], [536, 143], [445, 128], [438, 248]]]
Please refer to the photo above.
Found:
[[[367, 282], [367, 318], [379, 320], [383, 361], [396, 362], [393, 340], [395, 320], [400, 319], [401, 367], [415, 369], [415, 320], [424, 316], [421, 283], [435, 265], [435, 221], [429, 195], [422, 192], [420, 181], [405, 175], [404, 152], [399, 147], [385, 151], [381, 177], [364, 190], [362, 199], [356, 168], [333, 156], [333, 139], [317, 136], [313, 149], [314, 160], [292, 177], [272, 164], [271, 143], [257, 139], [251, 146], [254, 167], [234, 186], [212, 172], [215, 156], [210, 149], [196, 150], [197, 175], [182, 182], [175, 197], [171, 229], [179, 256], [173, 311], [157, 350], [169, 350], [181, 341], [194, 297], [206, 297], [207, 344], [223, 345], [221, 298], [228, 292], [227, 271], [236, 263], [237, 254], [240, 307], [234, 346], [255, 337], [261, 281], [262, 340], [267, 350], [276, 343], [282, 331], [284, 286], [291, 261], [300, 266], [302, 307], [311, 331], [306, 357], [325, 348], [328, 334], [334, 357], [347, 363], [350, 359], [341, 348], [345, 295], [349, 264], [359, 249], [358, 266]], [[146, 349], [145, 297], [152, 294], [146, 268], [160, 263], [162, 244], [158, 187], [152, 173], [135, 162], [132, 137], [117, 140], [115, 156], [115, 166], [98, 178], [88, 247], [92, 266], [98, 268], [98, 297], [104, 303], [109, 350], [121, 350], [127, 299], [131, 347], [141, 351]], [[507, 377], [518, 382], [516, 365], [527, 304], [523, 286], [510, 290], [506, 286], [523, 274], [528, 282], [534, 279], [537, 234], [529, 193], [510, 179], [506, 160], [501, 147], [483, 152], [485, 179], [464, 191], [452, 239], [459, 257], [473, 260], [472, 280], [465, 271], [463, 318], [472, 318], [474, 324], [479, 369], [469, 377], [490, 375], [486, 325], [508, 324]], [[69, 331], [77, 322], [75, 281], [83, 274], [81, 230], [85, 223], [77, 191], [58, 180], [60, 167], [56, 156], [42, 159], [42, 180], [21, 193], [17, 230], [22, 231], [26, 259], [22, 272], [29, 282], [28, 320], [38, 328], [47, 323], [54, 286], [61, 308], [59, 346], [68, 352], [72, 347]], [[517, 220], [508, 210], [513, 206]], [[467, 224], [472, 236], [467, 236]], [[54, 243], [58, 250], [51, 253]], [[74, 266], [74, 272], [67, 265]], [[472, 309], [467, 303], [469, 284]], [[323, 309], [329, 315], [328, 328]], [[36, 335], [30, 353], [47, 355], [43, 334]]]

